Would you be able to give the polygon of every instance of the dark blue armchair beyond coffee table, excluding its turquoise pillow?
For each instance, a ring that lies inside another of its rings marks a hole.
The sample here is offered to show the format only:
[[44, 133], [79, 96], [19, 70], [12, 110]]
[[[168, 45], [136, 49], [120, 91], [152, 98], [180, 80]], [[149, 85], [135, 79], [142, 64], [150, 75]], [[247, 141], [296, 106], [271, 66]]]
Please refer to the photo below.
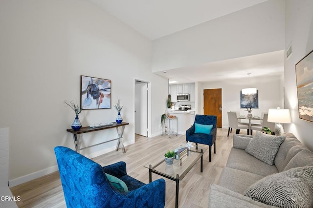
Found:
[[211, 153], [212, 153], [212, 145], [214, 146], [214, 154], [215, 151], [215, 140], [216, 140], [216, 116], [207, 116], [207, 115], [196, 115], [195, 123], [201, 125], [213, 125], [212, 130], [209, 134], [205, 133], [195, 133], [195, 124], [192, 125], [186, 131], [186, 141], [194, 142], [196, 145], [203, 144], [209, 146], [209, 161], [211, 162]]

